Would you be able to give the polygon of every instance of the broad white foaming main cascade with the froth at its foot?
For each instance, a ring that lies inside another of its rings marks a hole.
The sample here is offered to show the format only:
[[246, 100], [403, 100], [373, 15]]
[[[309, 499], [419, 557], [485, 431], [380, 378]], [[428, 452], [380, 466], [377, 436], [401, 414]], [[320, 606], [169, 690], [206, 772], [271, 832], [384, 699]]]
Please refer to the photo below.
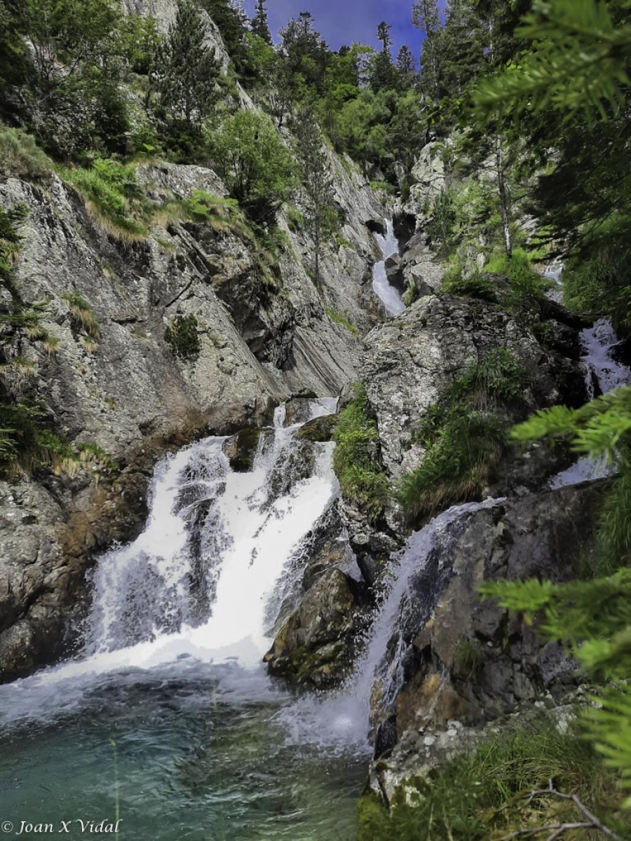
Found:
[[[307, 414], [336, 405], [313, 400]], [[251, 670], [255, 694], [268, 685], [262, 657], [276, 591], [300, 577], [294, 553], [338, 493], [334, 445], [301, 444], [300, 424], [284, 422], [281, 407], [247, 473], [233, 471], [217, 437], [158, 464], [144, 532], [98, 561], [83, 656], [0, 687], [0, 717], [21, 716], [21, 698], [33, 715], [67, 711], [109, 673], [138, 669], [173, 677], [236, 664]]]

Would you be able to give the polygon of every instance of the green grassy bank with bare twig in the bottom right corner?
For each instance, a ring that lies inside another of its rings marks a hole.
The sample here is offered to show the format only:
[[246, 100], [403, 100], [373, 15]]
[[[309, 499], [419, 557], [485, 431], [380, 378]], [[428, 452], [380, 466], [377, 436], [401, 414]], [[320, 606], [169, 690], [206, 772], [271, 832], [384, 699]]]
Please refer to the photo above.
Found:
[[[511, 838], [524, 826], [584, 819], [571, 801], [529, 798], [547, 789], [549, 780], [597, 814], [611, 806], [616, 791], [615, 778], [587, 743], [573, 730], [559, 733], [553, 722], [541, 719], [480, 743], [427, 779], [407, 780], [390, 811], [374, 794], [364, 794], [358, 841], [487, 841]], [[624, 832], [620, 817], [607, 822]]]

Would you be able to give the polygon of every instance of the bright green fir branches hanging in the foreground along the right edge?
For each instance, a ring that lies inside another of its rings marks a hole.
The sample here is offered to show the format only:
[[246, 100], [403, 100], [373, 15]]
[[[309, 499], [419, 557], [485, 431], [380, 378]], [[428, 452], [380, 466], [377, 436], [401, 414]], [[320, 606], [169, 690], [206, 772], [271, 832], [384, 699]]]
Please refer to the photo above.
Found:
[[[492, 6], [491, 3], [489, 3]], [[559, 190], [558, 201], [570, 204], [582, 250], [593, 251], [601, 238], [618, 262], [614, 275], [602, 265], [591, 277], [581, 271], [565, 281], [589, 283], [589, 294], [609, 301], [618, 273], [627, 288], [618, 299], [618, 314], [627, 329], [629, 316], [628, 183], [631, 161], [628, 141], [616, 145], [628, 127], [631, 98], [631, 25], [624, 18], [626, 4], [607, 0], [535, 0], [520, 35], [533, 48], [520, 56], [518, 66], [480, 81], [475, 103], [480, 130], [489, 118], [503, 119], [499, 132], [528, 133], [547, 150], [561, 149], [557, 175], [570, 180]], [[618, 17], [621, 14], [621, 17]], [[484, 128], [483, 128], [484, 127]], [[567, 172], [568, 155], [578, 150]], [[544, 157], [546, 160], [546, 157]], [[602, 177], [602, 161], [609, 178]], [[612, 161], [612, 164], [607, 163]], [[582, 167], [577, 164], [581, 162]], [[565, 168], [565, 173], [563, 172]], [[594, 176], [594, 173], [597, 176]], [[547, 176], [549, 177], [549, 176]], [[592, 198], [593, 192], [597, 193]], [[558, 230], [558, 229], [557, 229]], [[572, 258], [568, 261], [572, 267]], [[599, 289], [600, 288], [600, 289]], [[618, 287], [619, 288], [619, 287]], [[575, 291], [579, 291], [576, 290]], [[603, 307], [603, 309], [605, 309]], [[606, 311], [606, 309], [605, 309]], [[616, 478], [599, 521], [599, 552], [584, 579], [568, 584], [532, 579], [486, 584], [484, 595], [501, 606], [520, 611], [526, 621], [538, 619], [546, 637], [565, 643], [570, 653], [600, 684], [597, 705], [587, 706], [581, 718], [604, 763], [618, 770], [621, 784], [631, 793], [631, 387], [615, 389], [580, 409], [565, 406], [538, 412], [513, 431], [517, 442], [561, 439], [577, 455], [613, 464]], [[623, 804], [631, 807], [631, 796]], [[607, 833], [614, 837], [612, 833]]]

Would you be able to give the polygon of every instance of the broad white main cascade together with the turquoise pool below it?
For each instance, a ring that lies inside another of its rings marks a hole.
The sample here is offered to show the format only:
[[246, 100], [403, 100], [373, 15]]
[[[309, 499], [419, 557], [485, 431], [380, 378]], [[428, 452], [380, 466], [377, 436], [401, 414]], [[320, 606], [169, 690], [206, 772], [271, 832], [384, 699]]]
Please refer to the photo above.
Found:
[[[301, 421], [336, 403], [304, 402]], [[0, 817], [16, 832], [118, 808], [126, 838], [354, 838], [365, 754], [295, 746], [261, 663], [337, 495], [333, 445], [299, 426], [278, 410], [245, 473], [225, 438], [166, 458], [145, 531], [94, 571], [82, 657], [0, 686]]]

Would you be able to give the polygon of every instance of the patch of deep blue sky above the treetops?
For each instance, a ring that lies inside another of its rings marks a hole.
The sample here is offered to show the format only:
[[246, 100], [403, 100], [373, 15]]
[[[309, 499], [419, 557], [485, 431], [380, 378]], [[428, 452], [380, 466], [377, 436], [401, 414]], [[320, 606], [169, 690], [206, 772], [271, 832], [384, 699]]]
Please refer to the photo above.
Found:
[[[245, 5], [251, 13], [254, 0], [246, 0]], [[377, 24], [385, 20], [392, 24], [395, 56], [401, 44], [408, 44], [418, 59], [422, 36], [411, 25], [411, 7], [412, 0], [268, 0], [268, 15], [275, 39], [290, 18], [310, 12], [331, 50], [353, 41], [379, 45]]]

